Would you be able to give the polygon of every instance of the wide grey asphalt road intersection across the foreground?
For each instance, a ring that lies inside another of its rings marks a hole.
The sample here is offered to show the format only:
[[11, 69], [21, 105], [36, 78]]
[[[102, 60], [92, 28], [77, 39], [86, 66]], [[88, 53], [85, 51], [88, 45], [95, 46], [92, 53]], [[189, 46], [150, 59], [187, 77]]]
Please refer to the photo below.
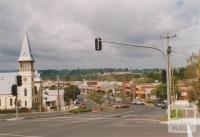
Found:
[[0, 121], [0, 137], [187, 137], [168, 133], [167, 125], [158, 120], [164, 113], [160, 108], [133, 106], [112, 112]]

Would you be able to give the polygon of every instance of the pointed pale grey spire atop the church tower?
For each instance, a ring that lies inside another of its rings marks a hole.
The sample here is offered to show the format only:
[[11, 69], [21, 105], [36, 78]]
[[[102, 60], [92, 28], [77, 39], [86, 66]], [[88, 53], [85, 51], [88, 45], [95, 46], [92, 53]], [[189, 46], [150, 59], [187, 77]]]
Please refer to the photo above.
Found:
[[21, 53], [18, 61], [34, 61], [27, 33], [22, 42]]

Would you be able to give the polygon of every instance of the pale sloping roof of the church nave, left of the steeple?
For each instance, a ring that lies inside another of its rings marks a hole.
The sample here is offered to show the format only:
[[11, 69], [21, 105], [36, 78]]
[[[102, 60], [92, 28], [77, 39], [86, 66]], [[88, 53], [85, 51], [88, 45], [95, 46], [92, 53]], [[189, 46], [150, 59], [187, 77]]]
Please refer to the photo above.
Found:
[[11, 94], [11, 86], [16, 83], [17, 72], [0, 73], [0, 95]]

